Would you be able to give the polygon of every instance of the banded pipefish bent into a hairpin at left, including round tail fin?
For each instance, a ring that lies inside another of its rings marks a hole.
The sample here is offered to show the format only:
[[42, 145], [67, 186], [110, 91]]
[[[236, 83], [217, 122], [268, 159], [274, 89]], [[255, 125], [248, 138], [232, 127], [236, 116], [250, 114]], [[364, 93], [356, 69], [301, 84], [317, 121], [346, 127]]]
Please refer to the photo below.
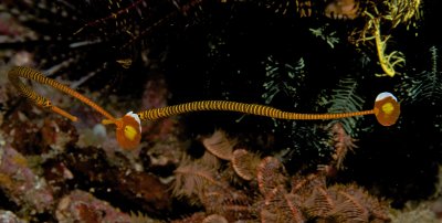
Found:
[[99, 105], [95, 104], [92, 102], [90, 98], [83, 96], [78, 92], [70, 88], [66, 85], [63, 85], [52, 78], [49, 78], [44, 76], [41, 72], [35, 71], [33, 68], [29, 67], [22, 67], [22, 66], [17, 66], [13, 67], [11, 71], [8, 73], [8, 78], [12, 83], [12, 85], [20, 92], [22, 96], [34, 103], [35, 105], [51, 109], [54, 113], [57, 113], [72, 121], [76, 121], [77, 117], [71, 115], [70, 113], [63, 110], [62, 108], [55, 106], [52, 104], [52, 102], [39, 94], [36, 94], [31, 87], [27, 86], [21, 79], [27, 78], [27, 79], [32, 79], [34, 82], [38, 82], [43, 85], [48, 85], [51, 87], [54, 87], [61, 92], [64, 92], [84, 104], [91, 106], [94, 108], [96, 112], [101, 113], [103, 116], [105, 116], [107, 121], [105, 124], [115, 124], [116, 125], [116, 135], [117, 135], [117, 141], [119, 146], [124, 149], [133, 149], [137, 145], [139, 145], [139, 141], [141, 139], [140, 134], [141, 134], [141, 125], [140, 120], [130, 115], [131, 113], [128, 113], [126, 116], [123, 118], [114, 118], [109, 113], [107, 113], [104, 108], [102, 108]]

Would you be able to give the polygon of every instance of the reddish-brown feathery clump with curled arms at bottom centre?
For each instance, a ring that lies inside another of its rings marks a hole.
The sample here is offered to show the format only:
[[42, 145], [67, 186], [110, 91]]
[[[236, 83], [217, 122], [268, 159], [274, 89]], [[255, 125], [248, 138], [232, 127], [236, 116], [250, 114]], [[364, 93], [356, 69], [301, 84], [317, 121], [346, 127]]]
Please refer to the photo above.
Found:
[[[173, 187], [176, 197], [202, 205], [208, 214], [221, 215], [228, 222], [390, 221], [388, 203], [362, 188], [327, 185], [324, 171], [288, 177], [276, 158], [260, 159], [245, 149], [234, 149], [234, 141], [227, 144], [229, 139], [221, 131], [215, 131], [209, 140], [212, 144], [206, 148], [210, 153], [192, 162], [183, 160], [175, 171]], [[231, 157], [231, 162], [215, 167], [210, 156], [224, 160]], [[248, 181], [246, 189], [235, 187], [238, 177]]]

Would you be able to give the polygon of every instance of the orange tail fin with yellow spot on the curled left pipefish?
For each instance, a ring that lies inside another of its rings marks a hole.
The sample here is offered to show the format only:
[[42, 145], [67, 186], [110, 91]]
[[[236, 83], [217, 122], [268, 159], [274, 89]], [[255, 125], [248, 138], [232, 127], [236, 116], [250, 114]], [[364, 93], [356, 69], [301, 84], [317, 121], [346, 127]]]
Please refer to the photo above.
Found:
[[116, 137], [123, 149], [135, 149], [141, 140], [141, 120], [137, 114], [127, 113], [117, 120]]

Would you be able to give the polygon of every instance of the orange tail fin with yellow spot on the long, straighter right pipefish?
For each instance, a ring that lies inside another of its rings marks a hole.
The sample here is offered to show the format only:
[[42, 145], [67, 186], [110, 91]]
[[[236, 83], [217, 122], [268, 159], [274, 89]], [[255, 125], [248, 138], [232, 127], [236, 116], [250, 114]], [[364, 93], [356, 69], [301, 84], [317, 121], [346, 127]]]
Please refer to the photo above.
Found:
[[400, 115], [400, 105], [398, 99], [391, 93], [380, 93], [375, 102], [375, 115], [382, 126], [396, 124]]

